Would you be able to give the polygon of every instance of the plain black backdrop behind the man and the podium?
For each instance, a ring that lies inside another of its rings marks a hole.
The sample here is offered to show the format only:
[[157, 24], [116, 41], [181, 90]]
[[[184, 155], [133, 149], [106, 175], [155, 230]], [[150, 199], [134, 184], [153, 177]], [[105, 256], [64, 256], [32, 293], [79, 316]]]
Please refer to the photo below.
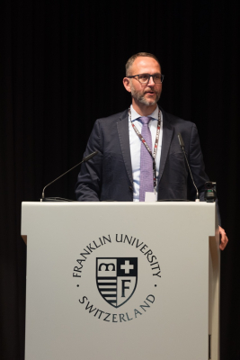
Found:
[[[132, 5], [130, 5], [132, 4]], [[165, 75], [160, 104], [196, 122], [218, 183], [229, 245], [221, 256], [221, 360], [240, 359], [239, 14], [236, 1], [11, 1], [1, 8], [0, 358], [24, 354], [26, 247], [21, 202], [79, 162], [95, 119], [130, 103], [122, 77], [138, 51]], [[78, 169], [48, 196], [75, 198]], [[37, 310], [36, 310], [37, 311]], [[34, 359], [32, 359], [34, 360]]]

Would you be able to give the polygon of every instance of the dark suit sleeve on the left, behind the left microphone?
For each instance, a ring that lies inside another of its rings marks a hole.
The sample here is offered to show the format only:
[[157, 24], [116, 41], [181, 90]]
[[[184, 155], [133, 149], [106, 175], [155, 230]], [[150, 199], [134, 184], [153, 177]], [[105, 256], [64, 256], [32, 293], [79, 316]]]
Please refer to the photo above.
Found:
[[93, 151], [98, 153], [81, 166], [76, 183], [76, 200], [79, 202], [99, 202], [102, 190], [102, 137], [100, 121], [95, 121], [88, 139], [84, 157]]

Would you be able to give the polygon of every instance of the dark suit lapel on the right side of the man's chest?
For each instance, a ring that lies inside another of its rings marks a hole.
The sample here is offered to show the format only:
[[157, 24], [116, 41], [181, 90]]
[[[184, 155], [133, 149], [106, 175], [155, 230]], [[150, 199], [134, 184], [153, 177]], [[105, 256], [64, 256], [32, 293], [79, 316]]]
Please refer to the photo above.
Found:
[[161, 180], [161, 177], [164, 173], [164, 166], [166, 162], [166, 158], [169, 152], [171, 140], [173, 137], [173, 126], [167, 120], [167, 116], [163, 109], [161, 109], [163, 113], [163, 143], [162, 143], [162, 151], [161, 151], [161, 160], [160, 160], [160, 168], [159, 168], [159, 175], [158, 175], [158, 184]]

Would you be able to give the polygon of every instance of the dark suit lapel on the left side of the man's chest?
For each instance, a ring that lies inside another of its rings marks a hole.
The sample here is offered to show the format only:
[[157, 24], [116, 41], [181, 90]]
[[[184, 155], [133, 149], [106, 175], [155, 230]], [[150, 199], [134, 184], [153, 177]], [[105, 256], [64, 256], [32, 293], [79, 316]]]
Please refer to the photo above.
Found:
[[132, 167], [131, 167], [131, 156], [129, 146], [129, 115], [128, 110], [123, 112], [120, 116], [120, 121], [117, 122], [117, 128], [120, 138], [120, 148], [124, 164], [129, 175], [129, 180], [133, 184], [132, 179]]

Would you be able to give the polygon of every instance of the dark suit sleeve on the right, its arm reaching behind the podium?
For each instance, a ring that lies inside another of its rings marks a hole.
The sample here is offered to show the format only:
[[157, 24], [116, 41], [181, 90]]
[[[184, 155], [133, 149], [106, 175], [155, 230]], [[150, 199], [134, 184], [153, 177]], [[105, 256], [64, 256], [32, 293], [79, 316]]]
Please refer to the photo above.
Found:
[[[194, 182], [200, 193], [200, 201], [204, 202], [204, 190], [205, 183], [209, 181], [209, 176], [205, 172], [205, 165], [203, 162], [202, 152], [200, 148], [200, 139], [198, 130], [195, 124], [192, 126], [191, 130], [191, 141], [189, 148], [189, 163], [191, 167], [191, 173], [194, 179]], [[196, 193], [196, 189], [191, 186], [191, 193]], [[216, 201], [217, 213], [218, 213], [218, 224], [221, 224], [220, 211], [218, 208], [218, 199]]]

